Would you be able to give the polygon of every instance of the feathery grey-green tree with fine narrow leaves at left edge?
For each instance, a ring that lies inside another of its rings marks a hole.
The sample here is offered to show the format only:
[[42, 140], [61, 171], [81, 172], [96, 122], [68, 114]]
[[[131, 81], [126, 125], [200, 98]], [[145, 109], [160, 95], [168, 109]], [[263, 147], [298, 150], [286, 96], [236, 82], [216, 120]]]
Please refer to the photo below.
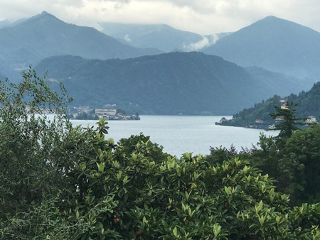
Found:
[[[19, 84], [0, 82], [0, 217], [28, 210], [31, 202], [41, 202], [44, 192], [55, 195], [64, 178], [50, 164], [56, 160], [53, 146], [63, 134], [63, 112], [71, 99], [62, 86], [62, 96], [51, 92], [31, 68], [22, 77]], [[42, 114], [43, 108], [54, 109], [53, 121]]]

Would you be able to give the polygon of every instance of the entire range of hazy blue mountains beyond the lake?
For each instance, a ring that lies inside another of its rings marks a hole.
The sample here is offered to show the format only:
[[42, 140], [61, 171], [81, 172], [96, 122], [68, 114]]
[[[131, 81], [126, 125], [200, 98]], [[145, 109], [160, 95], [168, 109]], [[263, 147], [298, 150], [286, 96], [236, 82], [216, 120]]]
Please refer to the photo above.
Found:
[[[1, 21], [0, 77], [18, 79], [38, 64], [53, 85], [63, 80], [74, 104], [144, 114], [233, 114], [273, 94], [310, 89], [320, 77], [320, 33], [274, 16], [213, 36], [164, 24], [100, 26], [114, 38], [47, 12]], [[206, 54], [181, 53], [206, 45]]]

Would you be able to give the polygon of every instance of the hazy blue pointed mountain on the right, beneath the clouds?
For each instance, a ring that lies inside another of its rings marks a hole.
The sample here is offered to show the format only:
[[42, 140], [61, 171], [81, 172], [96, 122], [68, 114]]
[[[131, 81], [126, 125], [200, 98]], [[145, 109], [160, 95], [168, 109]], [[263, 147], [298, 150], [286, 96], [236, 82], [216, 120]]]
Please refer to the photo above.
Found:
[[320, 33], [274, 16], [221, 38], [203, 53], [218, 55], [243, 67], [320, 77]]

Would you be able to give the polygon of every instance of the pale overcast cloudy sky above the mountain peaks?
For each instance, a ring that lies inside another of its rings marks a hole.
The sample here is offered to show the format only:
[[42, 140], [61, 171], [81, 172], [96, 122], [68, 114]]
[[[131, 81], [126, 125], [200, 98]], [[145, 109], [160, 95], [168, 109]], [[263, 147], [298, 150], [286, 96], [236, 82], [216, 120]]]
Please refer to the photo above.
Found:
[[42, 11], [67, 23], [166, 23], [202, 35], [238, 31], [277, 16], [320, 31], [319, 0], [0, 0], [0, 21]]

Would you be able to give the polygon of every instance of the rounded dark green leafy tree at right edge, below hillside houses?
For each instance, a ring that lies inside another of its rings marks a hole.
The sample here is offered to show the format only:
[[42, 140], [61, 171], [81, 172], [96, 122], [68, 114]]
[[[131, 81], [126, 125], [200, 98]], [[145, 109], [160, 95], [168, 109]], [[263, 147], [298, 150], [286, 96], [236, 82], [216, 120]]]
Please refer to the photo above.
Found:
[[288, 182], [287, 192], [295, 202], [320, 199], [320, 125], [296, 131], [287, 139], [280, 168]]

